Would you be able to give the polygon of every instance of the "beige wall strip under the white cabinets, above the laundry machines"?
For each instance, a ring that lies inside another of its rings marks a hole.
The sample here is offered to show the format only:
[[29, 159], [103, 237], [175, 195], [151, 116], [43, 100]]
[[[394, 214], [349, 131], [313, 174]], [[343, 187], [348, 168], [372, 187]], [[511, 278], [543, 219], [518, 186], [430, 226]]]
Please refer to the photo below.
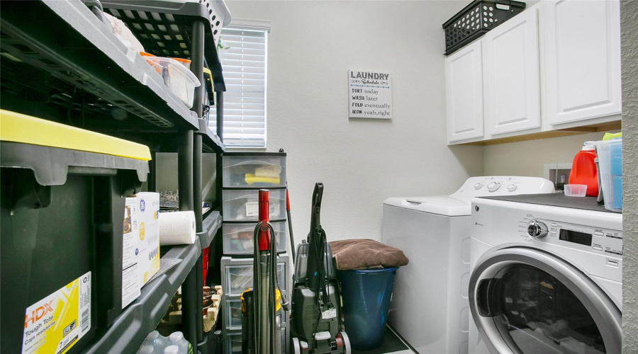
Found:
[[[612, 130], [611, 132], [617, 132]], [[486, 176], [543, 177], [544, 164], [571, 162], [583, 142], [603, 139], [603, 132], [553, 137], [549, 139], [488, 145], [483, 149], [483, 173]]]

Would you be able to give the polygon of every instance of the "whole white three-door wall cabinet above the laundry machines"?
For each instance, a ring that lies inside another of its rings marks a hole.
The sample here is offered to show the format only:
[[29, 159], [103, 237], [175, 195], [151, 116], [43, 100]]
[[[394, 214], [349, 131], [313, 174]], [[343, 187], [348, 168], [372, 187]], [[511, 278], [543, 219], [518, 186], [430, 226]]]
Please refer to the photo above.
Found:
[[445, 69], [449, 144], [608, 127], [621, 111], [619, 1], [541, 1]]

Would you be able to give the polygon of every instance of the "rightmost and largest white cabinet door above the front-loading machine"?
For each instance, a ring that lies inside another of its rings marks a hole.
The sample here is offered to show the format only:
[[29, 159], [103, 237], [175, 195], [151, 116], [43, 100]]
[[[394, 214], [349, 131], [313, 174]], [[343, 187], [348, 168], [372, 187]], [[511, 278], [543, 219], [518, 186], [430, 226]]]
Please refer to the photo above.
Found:
[[550, 125], [620, 113], [620, 3], [547, 1]]

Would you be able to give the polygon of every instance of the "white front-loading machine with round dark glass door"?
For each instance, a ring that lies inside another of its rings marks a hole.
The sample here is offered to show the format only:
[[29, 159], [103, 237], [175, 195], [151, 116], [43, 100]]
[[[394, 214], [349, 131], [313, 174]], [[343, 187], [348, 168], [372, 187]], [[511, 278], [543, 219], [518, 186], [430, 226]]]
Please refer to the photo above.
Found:
[[622, 214], [595, 198], [476, 198], [469, 353], [620, 353]]

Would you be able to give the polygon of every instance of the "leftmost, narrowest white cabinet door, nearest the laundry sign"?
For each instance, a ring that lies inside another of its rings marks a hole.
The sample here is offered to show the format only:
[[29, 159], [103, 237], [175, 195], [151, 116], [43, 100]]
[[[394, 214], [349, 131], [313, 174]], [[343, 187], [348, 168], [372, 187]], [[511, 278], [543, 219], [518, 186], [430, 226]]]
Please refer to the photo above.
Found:
[[483, 68], [481, 42], [445, 59], [447, 140], [483, 137]]

